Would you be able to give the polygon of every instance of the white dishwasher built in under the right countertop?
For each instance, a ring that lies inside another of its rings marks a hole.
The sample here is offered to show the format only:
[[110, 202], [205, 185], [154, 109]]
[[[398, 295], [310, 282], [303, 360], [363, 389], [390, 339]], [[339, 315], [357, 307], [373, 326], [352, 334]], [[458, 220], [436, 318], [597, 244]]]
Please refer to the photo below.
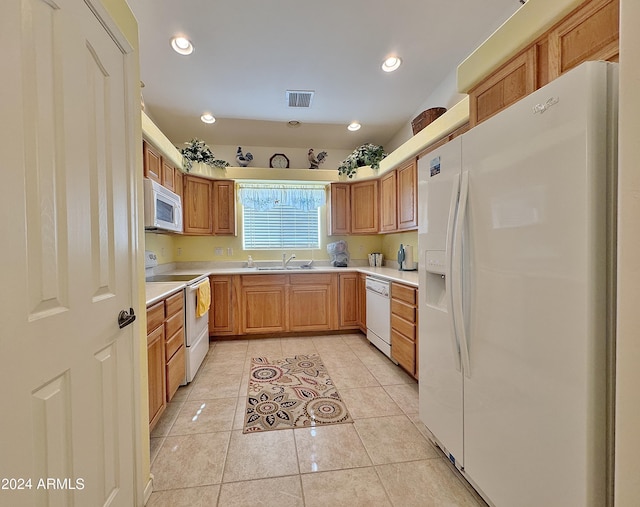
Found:
[[391, 358], [391, 291], [386, 280], [368, 276], [367, 340]]

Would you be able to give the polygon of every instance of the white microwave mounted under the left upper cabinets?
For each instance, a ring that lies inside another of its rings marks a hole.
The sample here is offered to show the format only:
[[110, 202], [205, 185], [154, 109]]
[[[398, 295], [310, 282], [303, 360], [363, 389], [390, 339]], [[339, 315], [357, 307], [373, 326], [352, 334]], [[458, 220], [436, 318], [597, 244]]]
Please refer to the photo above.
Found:
[[182, 232], [180, 196], [148, 178], [144, 179], [144, 228]]

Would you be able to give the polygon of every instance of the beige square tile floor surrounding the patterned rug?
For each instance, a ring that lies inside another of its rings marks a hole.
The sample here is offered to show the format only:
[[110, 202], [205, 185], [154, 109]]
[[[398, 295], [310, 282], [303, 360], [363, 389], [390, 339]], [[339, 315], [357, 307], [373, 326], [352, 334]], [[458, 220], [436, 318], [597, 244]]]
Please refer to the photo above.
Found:
[[[305, 353], [354, 423], [243, 435], [251, 358]], [[151, 434], [148, 505], [484, 507], [425, 431], [417, 383], [362, 334], [212, 342]]]

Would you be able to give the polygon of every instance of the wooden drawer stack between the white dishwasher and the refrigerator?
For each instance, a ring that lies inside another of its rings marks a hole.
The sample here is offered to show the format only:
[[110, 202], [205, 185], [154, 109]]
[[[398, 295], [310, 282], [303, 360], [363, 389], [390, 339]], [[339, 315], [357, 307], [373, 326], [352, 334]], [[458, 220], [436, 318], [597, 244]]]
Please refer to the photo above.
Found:
[[391, 284], [391, 357], [418, 378], [418, 291]]

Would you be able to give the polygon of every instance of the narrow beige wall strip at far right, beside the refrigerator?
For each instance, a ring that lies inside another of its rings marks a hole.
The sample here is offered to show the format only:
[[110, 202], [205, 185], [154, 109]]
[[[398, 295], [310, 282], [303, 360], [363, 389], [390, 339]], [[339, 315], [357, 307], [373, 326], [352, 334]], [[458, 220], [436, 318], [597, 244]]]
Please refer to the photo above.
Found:
[[620, 0], [615, 505], [640, 498], [640, 2]]

